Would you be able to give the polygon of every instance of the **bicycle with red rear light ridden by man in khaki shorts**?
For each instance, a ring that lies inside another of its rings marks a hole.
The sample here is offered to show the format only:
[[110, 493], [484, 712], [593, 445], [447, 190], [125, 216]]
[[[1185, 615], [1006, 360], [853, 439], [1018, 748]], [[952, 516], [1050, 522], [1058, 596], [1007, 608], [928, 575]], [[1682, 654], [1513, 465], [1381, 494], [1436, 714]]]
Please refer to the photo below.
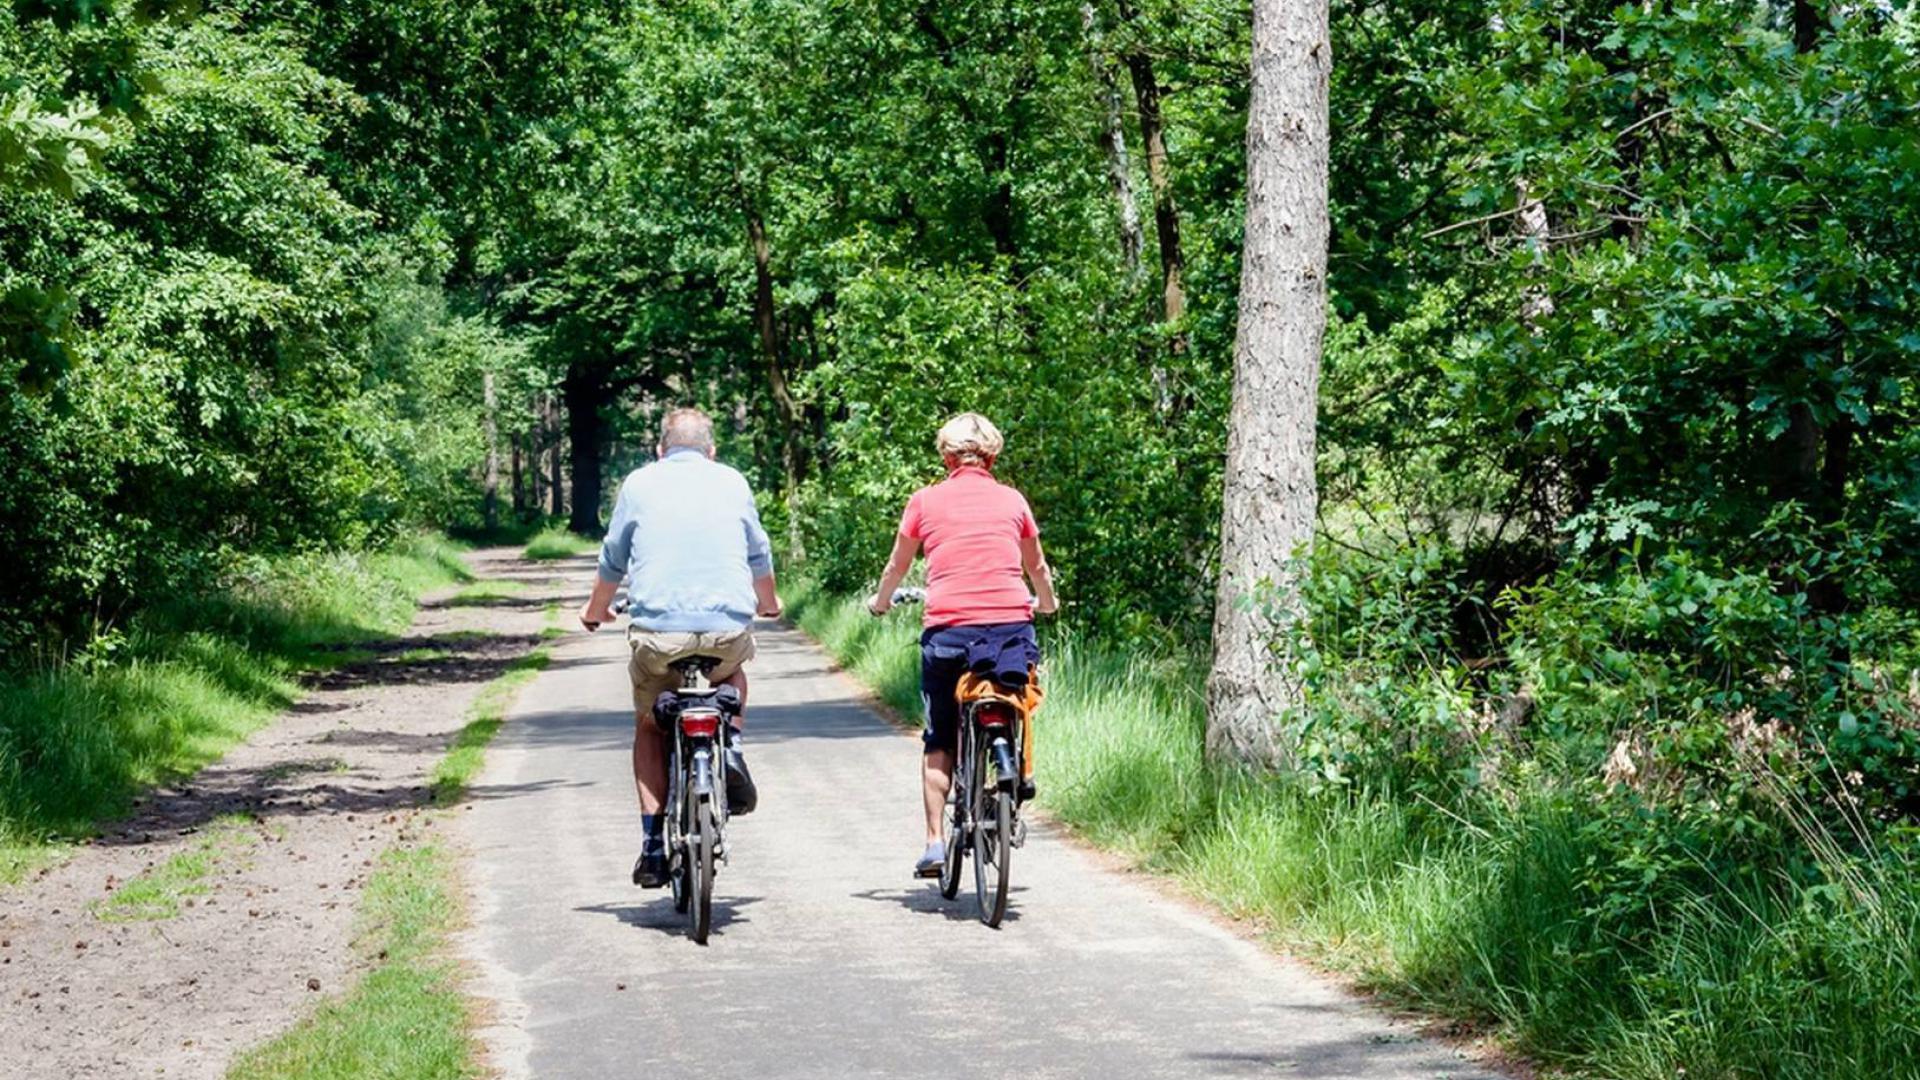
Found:
[[707, 682], [718, 665], [710, 655], [676, 659], [668, 667], [680, 673], [680, 688], [653, 703], [653, 723], [668, 738], [666, 871], [674, 911], [689, 913], [687, 936], [697, 945], [712, 930], [714, 874], [728, 861], [722, 755], [741, 711], [739, 690]]

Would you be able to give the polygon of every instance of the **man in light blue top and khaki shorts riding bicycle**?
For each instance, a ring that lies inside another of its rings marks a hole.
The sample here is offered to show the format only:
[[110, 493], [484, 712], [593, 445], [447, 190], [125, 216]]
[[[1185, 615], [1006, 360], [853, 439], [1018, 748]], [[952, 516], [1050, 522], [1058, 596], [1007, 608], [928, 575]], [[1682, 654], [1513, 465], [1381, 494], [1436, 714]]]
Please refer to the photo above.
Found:
[[[780, 617], [774, 553], [747, 479], [714, 461], [714, 425], [699, 409], [674, 409], [660, 425], [659, 459], [620, 484], [601, 544], [599, 578], [580, 609], [580, 625], [612, 621], [611, 603], [626, 584], [630, 625], [628, 680], [634, 686], [634, 786], [645, 832], [634, 884], [666, 884], [666, 751], [653, 724], [653, 700], [680, 686], [672, 663], [689, 655], [720, 661], [708, 680], [735, 686], [747, 700], [755, 615]], [[726, 751], [728, 805], [751, 813], [758, 794], [739, 751], [739, 719]]]

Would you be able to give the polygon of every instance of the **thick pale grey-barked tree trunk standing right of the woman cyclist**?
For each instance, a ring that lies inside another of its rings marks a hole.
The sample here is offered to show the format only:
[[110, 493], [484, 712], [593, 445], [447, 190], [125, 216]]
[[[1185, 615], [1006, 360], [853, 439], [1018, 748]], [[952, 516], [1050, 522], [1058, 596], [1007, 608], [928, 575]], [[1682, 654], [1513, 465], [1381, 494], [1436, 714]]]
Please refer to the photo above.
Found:
[[[1327, 332], [1327, 0], [1254, 0], [1246, 252], [1233, 350], [1208, 751], [1283, 765], [1279, 717], [1300, 701], [1288, 630], [1292, 557], [1313, 538], [1313, 425]], [[1271, 586], [1271, 594], [1263, 594]]]

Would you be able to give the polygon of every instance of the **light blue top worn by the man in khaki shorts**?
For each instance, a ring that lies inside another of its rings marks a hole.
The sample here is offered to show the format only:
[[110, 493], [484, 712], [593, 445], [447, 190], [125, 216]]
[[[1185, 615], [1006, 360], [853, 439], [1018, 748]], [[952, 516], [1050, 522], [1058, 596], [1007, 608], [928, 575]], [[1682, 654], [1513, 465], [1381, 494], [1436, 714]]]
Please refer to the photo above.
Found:
[[634, 626], [745, 628], [753, 582], [772, 573], [774, 550], [737, 471], [699, 450], [674, 450], [620, 484], [599, 577], [626, 582]]

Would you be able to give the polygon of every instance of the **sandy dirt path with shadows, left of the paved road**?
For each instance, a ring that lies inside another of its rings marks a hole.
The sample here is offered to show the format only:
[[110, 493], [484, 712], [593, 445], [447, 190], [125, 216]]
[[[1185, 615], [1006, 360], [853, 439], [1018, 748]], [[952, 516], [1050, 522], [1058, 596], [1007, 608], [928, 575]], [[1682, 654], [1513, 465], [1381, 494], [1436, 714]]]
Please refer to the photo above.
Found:
[[[428, 598], [371, 661], [319, 676], [221, 763], [0, 892], [0, 1076], [221, 1076], [351, 982], [372, 859], [447, 830], [419, 813], [428, 773], [480, 688], [538, 644], [555, 575], [578, 577], [509, 550], [468, 563], [520, 588], [480, 605], [453, 603], [453, 590]], [[219, 826], [227, 815], [253, 822]], [[217, 834], [209, 890], [177, 917], [96, 915], [115, 888]]]

